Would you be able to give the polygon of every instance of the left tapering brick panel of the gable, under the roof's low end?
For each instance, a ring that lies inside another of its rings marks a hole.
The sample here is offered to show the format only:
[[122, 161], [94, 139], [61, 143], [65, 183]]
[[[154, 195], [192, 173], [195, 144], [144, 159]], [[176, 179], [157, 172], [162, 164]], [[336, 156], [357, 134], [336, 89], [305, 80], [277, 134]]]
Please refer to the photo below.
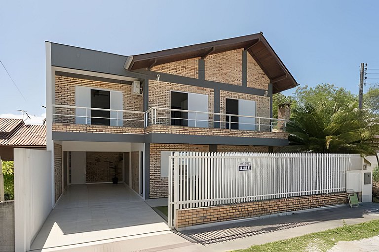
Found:
[[199, 58], [161, 64], [151, 68], [152, 71], [156, 72], [169, 73], [196, 79], [199, 77], [198, 69]]

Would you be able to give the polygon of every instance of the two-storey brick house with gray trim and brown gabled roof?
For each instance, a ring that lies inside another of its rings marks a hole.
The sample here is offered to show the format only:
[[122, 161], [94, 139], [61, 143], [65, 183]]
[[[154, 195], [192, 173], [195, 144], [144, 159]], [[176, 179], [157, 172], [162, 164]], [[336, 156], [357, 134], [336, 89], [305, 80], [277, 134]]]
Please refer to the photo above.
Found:
[[172, 151], [288, 145], [272, 95], [298, 84], [262, 33], [134, 56], [46, 42], [46, 73], [55, 200], [115, 174], [167, 197]]

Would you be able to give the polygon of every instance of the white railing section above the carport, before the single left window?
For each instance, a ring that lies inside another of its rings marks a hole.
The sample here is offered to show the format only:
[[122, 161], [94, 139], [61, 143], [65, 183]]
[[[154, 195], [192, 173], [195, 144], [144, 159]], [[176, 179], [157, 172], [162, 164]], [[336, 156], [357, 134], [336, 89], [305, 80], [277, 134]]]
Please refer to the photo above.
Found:
[[53, 122], [84, 125], [144, 127], [145, 112], [53, 105]]

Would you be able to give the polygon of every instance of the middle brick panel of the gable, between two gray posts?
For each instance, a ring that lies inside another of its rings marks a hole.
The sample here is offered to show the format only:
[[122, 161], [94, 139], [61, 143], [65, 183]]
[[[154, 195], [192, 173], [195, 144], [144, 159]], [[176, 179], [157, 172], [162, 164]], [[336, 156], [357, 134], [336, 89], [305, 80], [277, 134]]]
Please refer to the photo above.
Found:
[[242, 51], [212, 54], [204, 59], [205, 80], [242, 85]]

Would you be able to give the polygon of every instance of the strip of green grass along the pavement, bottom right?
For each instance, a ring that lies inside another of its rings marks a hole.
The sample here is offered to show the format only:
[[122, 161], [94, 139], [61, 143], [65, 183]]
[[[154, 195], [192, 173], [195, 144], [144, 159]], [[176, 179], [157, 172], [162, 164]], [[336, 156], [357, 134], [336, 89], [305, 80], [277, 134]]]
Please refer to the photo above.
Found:
[[379, 220], [311, 233], [287, 240], [255, 245], [236, 252], [327, 251], [339, 241], [356, 241], [379, 235]]

